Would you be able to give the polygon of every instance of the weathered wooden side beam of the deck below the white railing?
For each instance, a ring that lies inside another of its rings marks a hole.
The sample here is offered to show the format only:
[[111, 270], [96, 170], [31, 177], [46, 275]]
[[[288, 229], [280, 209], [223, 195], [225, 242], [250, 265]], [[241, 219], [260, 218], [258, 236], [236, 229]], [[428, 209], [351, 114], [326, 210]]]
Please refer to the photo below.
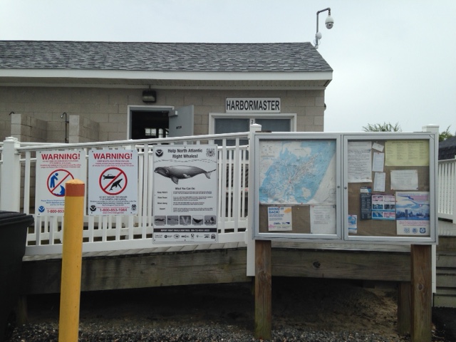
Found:
[[[350, 249], [348, 249], [350, 247]], [[410, 281], [410, 247], [273, 242], [272, 275]], [[244, 243], [83, 254], [81, 291], [251, 281]], [[61, 254], [24, 257], [21, 293], [60, 291]]]

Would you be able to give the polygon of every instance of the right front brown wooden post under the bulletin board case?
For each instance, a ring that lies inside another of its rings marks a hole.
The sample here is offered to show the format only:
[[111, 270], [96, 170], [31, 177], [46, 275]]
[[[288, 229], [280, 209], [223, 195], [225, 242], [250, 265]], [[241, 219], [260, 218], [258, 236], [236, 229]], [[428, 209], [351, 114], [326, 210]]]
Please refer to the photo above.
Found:
[[413, 244], [411, 254], [412, 280], [412, 342], [432, 340], [432, 267], [431, 246]]

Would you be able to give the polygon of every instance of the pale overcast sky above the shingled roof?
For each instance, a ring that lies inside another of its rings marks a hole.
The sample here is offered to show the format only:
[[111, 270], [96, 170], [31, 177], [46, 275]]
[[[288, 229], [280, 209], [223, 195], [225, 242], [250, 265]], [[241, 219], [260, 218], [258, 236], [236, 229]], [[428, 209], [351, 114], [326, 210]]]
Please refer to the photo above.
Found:
[[456, 132], [455, 0], [0, 0], [0, 40], [314, 42], [333, 68], [325, 131]]

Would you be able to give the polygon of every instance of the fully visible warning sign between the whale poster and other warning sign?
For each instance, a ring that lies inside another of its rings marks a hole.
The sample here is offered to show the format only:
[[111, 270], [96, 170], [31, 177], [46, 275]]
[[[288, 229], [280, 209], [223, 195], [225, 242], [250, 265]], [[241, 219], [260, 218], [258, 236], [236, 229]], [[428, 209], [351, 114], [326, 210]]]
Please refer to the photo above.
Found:
[[90, 150], [88, 160], [88, 214], [136, 214], [138, 151]]

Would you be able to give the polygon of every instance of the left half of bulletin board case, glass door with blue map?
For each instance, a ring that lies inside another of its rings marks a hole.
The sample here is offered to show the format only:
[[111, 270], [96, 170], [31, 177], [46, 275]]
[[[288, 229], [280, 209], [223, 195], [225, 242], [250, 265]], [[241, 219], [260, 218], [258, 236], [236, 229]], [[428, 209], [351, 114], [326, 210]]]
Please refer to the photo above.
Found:
[[258, 238], [341, 239], [340, 135], [259, 133]]

